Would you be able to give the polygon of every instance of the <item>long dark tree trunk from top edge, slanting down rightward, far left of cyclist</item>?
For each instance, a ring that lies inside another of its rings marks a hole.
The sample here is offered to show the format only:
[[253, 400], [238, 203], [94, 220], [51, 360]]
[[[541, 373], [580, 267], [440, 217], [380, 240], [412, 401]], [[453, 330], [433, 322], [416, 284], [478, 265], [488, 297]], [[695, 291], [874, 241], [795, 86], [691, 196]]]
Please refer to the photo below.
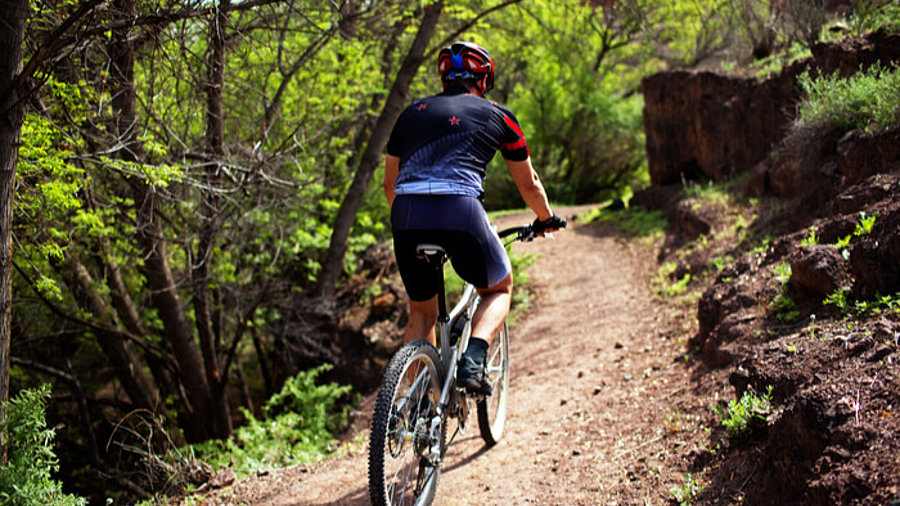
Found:
[[[135, 16], [134, 0], [116, 0], [115, 8], [122, 19]], [[110, 79], [115, 88], [112, 105], [115, 112], [116, 134], [124, 148], [120, 157], [139, 162], [143, 149], [138, 139], [137, 113], [134, 93], [134, 48], [131, 42], [131, 27], [113, 30], [110, 44]], [[162, 225], [156, 216], [156, 194], [146, 181], [133, 182], [134, 205], [137, 211], [137, 242], [144, 253], [144, 274], [150, 289], [150, 301], [159, 313], [165, 337], [172, 345], [178, 362], [181, 380], [187, 391], [188, 438], [193, 441], [209, 439], [208, 421], [211, 416], [210, 388], [203, 374], [203, 362], [181, 298], [169, 266], [166, 242]]]

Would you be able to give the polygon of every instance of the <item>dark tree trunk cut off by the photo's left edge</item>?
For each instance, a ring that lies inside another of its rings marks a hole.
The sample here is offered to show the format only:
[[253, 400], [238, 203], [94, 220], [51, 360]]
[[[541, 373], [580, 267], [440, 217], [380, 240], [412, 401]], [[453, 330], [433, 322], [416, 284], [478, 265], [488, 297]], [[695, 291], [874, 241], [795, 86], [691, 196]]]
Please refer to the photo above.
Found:
[[[22, 68], [26, 0], [0, 2], [0, 420], [9, 399], [9, 345], [12, 310], [12, 210], [19, 135], [25, 104], [16, 79]], [[0, 433], [0, 465], [6, 464], [6, 434]]]

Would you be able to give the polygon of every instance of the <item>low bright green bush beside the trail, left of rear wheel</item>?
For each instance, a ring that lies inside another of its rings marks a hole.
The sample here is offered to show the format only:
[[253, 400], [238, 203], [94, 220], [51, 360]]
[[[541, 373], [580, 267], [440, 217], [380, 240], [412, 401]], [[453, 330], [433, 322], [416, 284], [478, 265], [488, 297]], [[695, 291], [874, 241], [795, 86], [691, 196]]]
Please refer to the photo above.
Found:
[[349, 386], [316, 384], [316, 378], [330, 369], [323, 365], [288, 379], [263, 406], [262, 420], [242, 410], [247, 423], [231, 439], [195, 445], [197, 458], [217, 468], [252, 472], [327, 456], [333, 451], [333, 434], [346, 422], [349, 410], [338, 409], [337, 403], [351, 391]]

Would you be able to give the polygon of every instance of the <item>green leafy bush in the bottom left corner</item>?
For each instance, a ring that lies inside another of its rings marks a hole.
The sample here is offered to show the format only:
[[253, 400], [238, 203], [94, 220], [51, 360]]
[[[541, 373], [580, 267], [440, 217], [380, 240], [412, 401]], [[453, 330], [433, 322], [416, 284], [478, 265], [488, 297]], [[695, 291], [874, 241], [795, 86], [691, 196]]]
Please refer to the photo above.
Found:
[[56, 431], [47, 428], [44, 406], [50, 386], [23, 390], [8, 404], [0, 432], [6, 432], [8, 462], [0, 466], [0, 502], [10, 506], [83, 505], [87, 501], [62, 492], [53, 479], [59, 461], [53, 451]]

